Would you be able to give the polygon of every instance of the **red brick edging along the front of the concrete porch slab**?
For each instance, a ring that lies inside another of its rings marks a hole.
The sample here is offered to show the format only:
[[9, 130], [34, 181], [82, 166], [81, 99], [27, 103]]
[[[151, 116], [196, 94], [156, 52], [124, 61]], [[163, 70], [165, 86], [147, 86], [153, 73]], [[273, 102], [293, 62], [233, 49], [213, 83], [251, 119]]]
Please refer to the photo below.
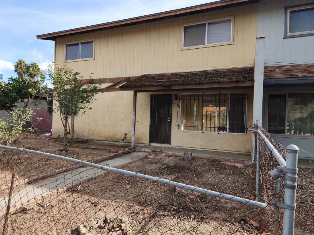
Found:
[[[155, 159], [161, 156], [183, 158], [183, 154], [164, 153], [161, 150], [153, 150], [153, 151], [147, 152], [147, 157], [150, 159]], [[252, 165], [252, 161], [244, 161], [244, 160], [236, 160], [236, 159], [228, 159], [228, 158], [201, 157], [201, 156], [193, 156], [193, 157], [196, 159], [202, 159], [202, 160], [217, 160], [227, 165], [234, 165], [234, 166], [239, 166], [239, 167], [247, 167], [247, 166]]]

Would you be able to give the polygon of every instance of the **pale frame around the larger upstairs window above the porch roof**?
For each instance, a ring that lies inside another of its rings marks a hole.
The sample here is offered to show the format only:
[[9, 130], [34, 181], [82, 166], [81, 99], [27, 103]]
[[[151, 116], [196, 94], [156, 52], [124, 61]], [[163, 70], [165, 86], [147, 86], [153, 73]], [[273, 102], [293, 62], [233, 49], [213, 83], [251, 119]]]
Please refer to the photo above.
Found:
[[[207, 28], [208, 28], [208, 23], [212, 23], [212, 22], [217, 22], [217, 21], [223, 21], [223, 20], [227, 20], [227, 19], [231, 19], [231, 35], [230, 35], [230, 41], [229, 42], [219, 42], [219, 43], [211, 43], [211, 44], [207, 44]], [[197, 25], [197, 24], [205, 24], [206, 23], [206, 31], [205, 31], [205, 44], [203, 45], [195, 45], [195, 46], [184, 46], [184, 31], [185, 31], [185, 27], [186, 26], [191, 26], [191, 25]], [[227, 18], [219, 18], [219, 19], [215, 19], [215, 20], [209, 20], [209, 21], [203, 21], [203, 22], [199, 22], [199, 23], [195, 23], [195, 24], [184, 24], [183, 25], [183, 40], [182, 40], [182, 48], [183, 49], [188, 49], [188, 48], [195, 48], [195, 47], [207, 47], [207, 46], [215, 46], [215, 45], [224, 45], [224, 44], [232, 44], [233, 43], [233, 25], [234, 25], [234, 16], [230, 16]]]

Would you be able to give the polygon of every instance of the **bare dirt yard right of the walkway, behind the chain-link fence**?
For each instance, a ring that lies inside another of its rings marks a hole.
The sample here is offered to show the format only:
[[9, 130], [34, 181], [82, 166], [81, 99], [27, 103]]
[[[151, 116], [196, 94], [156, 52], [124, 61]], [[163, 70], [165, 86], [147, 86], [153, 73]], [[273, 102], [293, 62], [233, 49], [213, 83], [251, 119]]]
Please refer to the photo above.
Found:
[[[254, 195], [250, 168], [216, 161], [187, 163], [181, 158], [162, 157], [134, 162], [124, 169], [245, 198]], [[11, 215], [8, 234], [78, 234], [78, 224], [93, 235], [113, 231], [128, 235], [257, 234], [248, 221], [262, 219], [258, 210], [248, 205], [207, 195], [181, 195], [175, 187], [116, 173], [54, 193], [44, 201], [51, 204]], [[121, 223], [122, 219], [128, 223]]]

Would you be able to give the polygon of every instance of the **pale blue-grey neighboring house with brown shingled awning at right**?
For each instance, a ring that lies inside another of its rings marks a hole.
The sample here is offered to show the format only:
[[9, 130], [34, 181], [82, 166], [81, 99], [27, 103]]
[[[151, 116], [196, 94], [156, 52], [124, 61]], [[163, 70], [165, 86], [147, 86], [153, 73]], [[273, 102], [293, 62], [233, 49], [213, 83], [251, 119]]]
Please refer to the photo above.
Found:
[[314, 159], [314, 1], [262, 1], [257, 35], [265, 35], [262, 124]]

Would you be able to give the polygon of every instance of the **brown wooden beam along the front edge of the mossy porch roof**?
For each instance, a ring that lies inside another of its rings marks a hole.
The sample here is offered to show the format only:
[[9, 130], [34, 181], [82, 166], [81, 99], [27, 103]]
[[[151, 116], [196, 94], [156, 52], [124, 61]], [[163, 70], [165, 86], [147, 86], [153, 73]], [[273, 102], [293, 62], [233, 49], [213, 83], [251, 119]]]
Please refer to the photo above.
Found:
[[234, 82], [216, 82], [204, 84], [188, 84], [188, 85], [170, 85], [169, 87], [163, 86], [136, 86], [136, 87], [116, 87], [116, 88], [102, 88], [98, 92], [113, 92], [113, 91], [176, 91], [176, 90], [190, 90], [190, 89], [207, 89], [207, 88], [220, 88], [220, 87], [241, 87], [241, 86], [254, 86], [254, 81], [234, 81]]

